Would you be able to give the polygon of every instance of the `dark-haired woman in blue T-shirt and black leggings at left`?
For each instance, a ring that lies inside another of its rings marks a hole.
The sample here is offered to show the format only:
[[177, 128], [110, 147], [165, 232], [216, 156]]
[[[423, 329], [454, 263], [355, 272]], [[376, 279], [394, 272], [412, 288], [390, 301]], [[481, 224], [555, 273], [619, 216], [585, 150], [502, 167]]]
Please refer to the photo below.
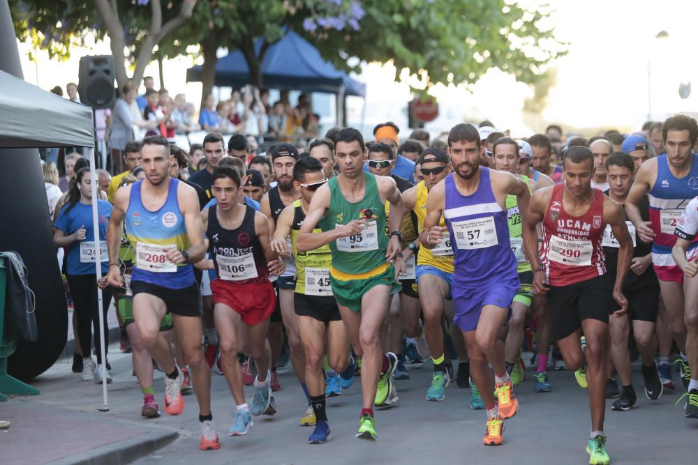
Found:
[[[107, 254], [107, 225], [112, 214], [112, 205], [105, 200], [97, 200], [99, 215], [98, 244], [94, 240], [94, 222], [92, 217], [91, 173], [89, 168], [77, 171], [75, 185], [68, 191], [68, 200], [61, 208], [54, 224], [53, 245], [66, 249], [66, 277], [70, 294], [73, 295], [75, 314], [77, 315], [77, 333], [84, 358], [82, 363], [82, 380], [95, 380], [101, 383], [105, 379], [112, 382], [109, 371], [103, 366], [100, 348], [99, 314], [97, 301], [96, 247], [100, 247], [102, 273], [106, 275], [109, 263]], [[109, 346], [109, 329], [107, 328], [107, 310], [112, 300], [112, 289], [102, 291], [102, 311], [104, 314], [105, 346]], [[97, 366], [91, 357], [92, 327], [94, 327], [94, 346], [97, 352]]]

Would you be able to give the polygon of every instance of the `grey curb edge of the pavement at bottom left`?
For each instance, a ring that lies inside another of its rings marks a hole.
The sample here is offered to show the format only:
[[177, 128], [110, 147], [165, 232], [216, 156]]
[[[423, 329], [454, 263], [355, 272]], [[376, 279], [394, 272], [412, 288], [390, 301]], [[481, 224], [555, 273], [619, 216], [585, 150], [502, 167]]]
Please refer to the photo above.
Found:
[[179, 437], [177, 432], [158, 429], [144, 436], [117, 441], [98, 448], [49, 462], [51, 465], [121, 465], [135, 462]]

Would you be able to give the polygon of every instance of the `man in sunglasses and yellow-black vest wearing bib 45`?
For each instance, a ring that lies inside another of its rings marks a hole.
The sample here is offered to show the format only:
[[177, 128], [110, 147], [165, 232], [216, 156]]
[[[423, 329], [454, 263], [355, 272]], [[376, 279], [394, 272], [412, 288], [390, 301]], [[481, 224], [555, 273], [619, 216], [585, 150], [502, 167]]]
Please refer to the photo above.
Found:
[[[315, 413], [315, 430], [309, 436], [311, 444], [322, 444], [332, 439], [325, 410], [325, 375], [322, 360], [325, 346], [329, 366], [341, 373], [348, 365], [349, 340], [342, 323], [339, 307], [329, 284], [332, 250], [325, 244], [315, 250], [298, 252], [298, 233], [310, 208], [315, 191], [327, 183], [322, 164], [311, 157], [302, 157], [293, 167], [293, 185], [301, 198], [287, 206], [279, 215], [272, 247], [281, 254], [289, 253], [286, 238], [290, 236], [293, 259], [296, 263], [296, 289], [293, 303], [298, 317], [298, 328], [306, 353], [305, 379]], [[315, 229], [314, 232], [322, 232]], [[329, 381], [328, 381], [329, 382]]]

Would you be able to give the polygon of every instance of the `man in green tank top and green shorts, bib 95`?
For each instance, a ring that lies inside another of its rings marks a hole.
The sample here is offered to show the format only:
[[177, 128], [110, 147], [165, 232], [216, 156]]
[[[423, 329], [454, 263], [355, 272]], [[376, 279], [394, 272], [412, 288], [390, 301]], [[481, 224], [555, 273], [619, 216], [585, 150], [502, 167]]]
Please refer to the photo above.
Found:
[[[364, 408], [356, 436], [375, 440], [374, 404], [397, 399], [392, 382], [397, 358], [394, 353], [380, 352], [378, 333], [390, 296], [400, 290], [396, 268], [405, 271], [400, 253], [402, 197], [392, 178], [364, 173], [366, 146], [361, 132], [343, 129], [335, 144], [340, 174], [313, 196], [296, 245], [299, 252], [325, 244], [332, 249], [329, 281], [349, 339], [357, 355], [363, 357]], [[389, 238], [385, 235], [386, 200], [390, 202]], [[313, 232], [318, 224], [322, 233]]]

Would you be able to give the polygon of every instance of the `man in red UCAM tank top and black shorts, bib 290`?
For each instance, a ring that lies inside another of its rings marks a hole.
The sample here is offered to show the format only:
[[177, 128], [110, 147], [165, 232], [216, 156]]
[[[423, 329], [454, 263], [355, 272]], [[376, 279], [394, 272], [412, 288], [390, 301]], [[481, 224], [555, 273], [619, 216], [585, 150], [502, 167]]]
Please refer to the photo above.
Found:
[[[628, 310], [628, 300], [621, 289], [630, 266], [632, 240], [623, 208], [600, 190], [591, 188], [593, 166], [594, 156], [588, 148], [577, 146], [567, 151], [565, 183], [537, 190], [531, 196], [523, 220], [523, 228], [529, 234], [523, 241], [533, 268], [533, 290], [547, 294], [553, 334], [565, 364], [577, 370], [577, 382], [590, 391], [592, 431], [586, 449], [591, 455], [589, 463], [605, 465], [609, 463], [603, 432], [608, 321], [618, 306], [621, 309], [617, 315]], [[539, 222], [544, 231], [540, 259], [534, 234]], [[606, 224], [611, 225], [619, 244], [615, 284], [606, 275], [601, 245]], [[586, 337], [586, 353], [584, 339], [580, 344], [581, 331]]]

